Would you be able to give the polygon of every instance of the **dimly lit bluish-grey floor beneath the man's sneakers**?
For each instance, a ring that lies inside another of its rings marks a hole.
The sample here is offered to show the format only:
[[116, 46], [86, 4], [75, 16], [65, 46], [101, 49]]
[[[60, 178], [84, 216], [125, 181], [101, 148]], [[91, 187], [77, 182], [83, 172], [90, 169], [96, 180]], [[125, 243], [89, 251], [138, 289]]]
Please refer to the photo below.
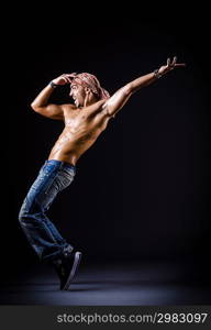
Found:
[[175, 264], [81, 263], [68, 292], [54, 270], [37, 264], [1, 283], [1, 305], [210, 305], [211, 286], [188, 282]]

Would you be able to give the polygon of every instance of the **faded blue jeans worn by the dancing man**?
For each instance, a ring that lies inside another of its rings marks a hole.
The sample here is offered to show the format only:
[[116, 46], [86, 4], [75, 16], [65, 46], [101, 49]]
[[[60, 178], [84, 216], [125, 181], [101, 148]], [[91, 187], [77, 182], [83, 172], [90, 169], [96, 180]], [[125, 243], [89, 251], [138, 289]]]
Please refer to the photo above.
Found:
[[25, 197], [19, 213], [20, 224], [41, 261], [55, 261], [74, 248], [47, 218], [53, 200], [74, 180], [76, 167], [60, 161], [46, 161]]

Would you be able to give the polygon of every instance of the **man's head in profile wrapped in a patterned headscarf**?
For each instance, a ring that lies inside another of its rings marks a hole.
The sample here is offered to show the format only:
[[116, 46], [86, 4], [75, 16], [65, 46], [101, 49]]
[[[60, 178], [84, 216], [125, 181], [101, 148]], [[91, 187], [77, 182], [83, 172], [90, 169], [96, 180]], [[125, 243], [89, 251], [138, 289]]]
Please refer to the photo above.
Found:
[[88, 92], [92, 94], [96, 100], [103, 100], [110, 97], [109, 92], [100, 86], [96, 76], [81, 73], [68, 75], [70, 80], [70, 96], [75, 98], [77, 106], [84, 106], [84, 100]]

